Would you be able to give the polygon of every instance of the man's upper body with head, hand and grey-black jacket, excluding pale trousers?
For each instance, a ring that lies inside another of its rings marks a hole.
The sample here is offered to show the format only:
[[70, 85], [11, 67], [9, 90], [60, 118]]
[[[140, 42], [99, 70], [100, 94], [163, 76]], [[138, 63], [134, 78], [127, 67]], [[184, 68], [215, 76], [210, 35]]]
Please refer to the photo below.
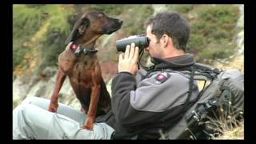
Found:
[[142, 139], [159, 138], [160, 131], [174, 126], [193, 104], [198, 86], [194, 83], [185, 105], [190, 79], [175, 71], [191, 70], [194, 65], [193, 56], [185, 53], [189, 34], [190, 28], [179, 14], [157, 14], [146, 28], [150, 38], [146, 50], [154, 66], [137, 72], [138, 49], [134, 50], [133, 44], [120, 55], [118, 74], [112, 81], [112, 110], [117, 122], [109, 123], [120, 131], [119, 138], [129, 134]]

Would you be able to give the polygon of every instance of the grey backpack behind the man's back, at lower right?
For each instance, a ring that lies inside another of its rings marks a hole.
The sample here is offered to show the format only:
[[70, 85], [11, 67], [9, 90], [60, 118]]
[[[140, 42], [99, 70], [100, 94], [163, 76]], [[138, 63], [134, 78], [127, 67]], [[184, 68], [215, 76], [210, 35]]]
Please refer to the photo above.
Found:
[[235, 125], [243, 119], [244, 75], [239, 70], [220, 71], [196, 63], [192, 72], [182, 74], [201, 82], [202, 90], [177, 125], [160, 139], [210, 139], [222, 133], [222, 122]]

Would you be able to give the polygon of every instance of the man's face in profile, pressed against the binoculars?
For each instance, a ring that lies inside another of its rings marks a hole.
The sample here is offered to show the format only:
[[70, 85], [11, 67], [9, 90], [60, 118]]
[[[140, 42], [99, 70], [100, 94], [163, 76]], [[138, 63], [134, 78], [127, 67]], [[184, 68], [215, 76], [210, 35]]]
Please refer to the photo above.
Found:
[[147, 26], [146, 36], [150, 38], [150, 45], [145, 50], [149, 52], [151, 58], [161, 58], [160, 42], [157, 42], [157, 37], [151, 33], [151, 30], [152, 26]]

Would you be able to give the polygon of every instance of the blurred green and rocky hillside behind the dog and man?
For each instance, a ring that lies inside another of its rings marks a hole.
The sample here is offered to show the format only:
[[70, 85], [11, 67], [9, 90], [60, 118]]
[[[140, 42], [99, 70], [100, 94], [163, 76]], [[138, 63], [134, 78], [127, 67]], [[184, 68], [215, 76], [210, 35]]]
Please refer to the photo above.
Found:
[[[110, 90], [117, 73], [118, 53], [114, 42], [134, 34], [145, 34], [145, 22], [154, 14], [173, 11], [190, 23], [187, 52], [197, 62], [243, 72], [243, 5], [13, 5], [13, 108], [26, 97], [50, 98], [54, 90], [58, 54], [80, 14], [102, 10], [120, 18], [120, 30], [98, 39], [96, 47], [102, 75]], [[143, 62], [148, 61], [144, 54]], [[59, 93], [59, 102], [80, 109], [68, 78]]]

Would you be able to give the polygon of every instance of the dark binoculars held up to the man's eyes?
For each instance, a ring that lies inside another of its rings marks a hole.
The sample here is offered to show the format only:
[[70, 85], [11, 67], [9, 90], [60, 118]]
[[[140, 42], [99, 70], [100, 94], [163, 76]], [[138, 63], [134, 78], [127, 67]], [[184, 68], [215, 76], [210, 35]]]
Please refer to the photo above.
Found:
[[147, 46], [150, 44], [150, 38], [147, 38], [146, 36], [143, 35], [133, 35], [130, 36], [129, 38], [122, 38], [115, 42], [115, 46], [118, 51], [125, 52], [126, 51], [126, 46], [130, 45], [132, 42], [135, 43], [135, 46], [138, 46], [139, 50], [145, 49]]

